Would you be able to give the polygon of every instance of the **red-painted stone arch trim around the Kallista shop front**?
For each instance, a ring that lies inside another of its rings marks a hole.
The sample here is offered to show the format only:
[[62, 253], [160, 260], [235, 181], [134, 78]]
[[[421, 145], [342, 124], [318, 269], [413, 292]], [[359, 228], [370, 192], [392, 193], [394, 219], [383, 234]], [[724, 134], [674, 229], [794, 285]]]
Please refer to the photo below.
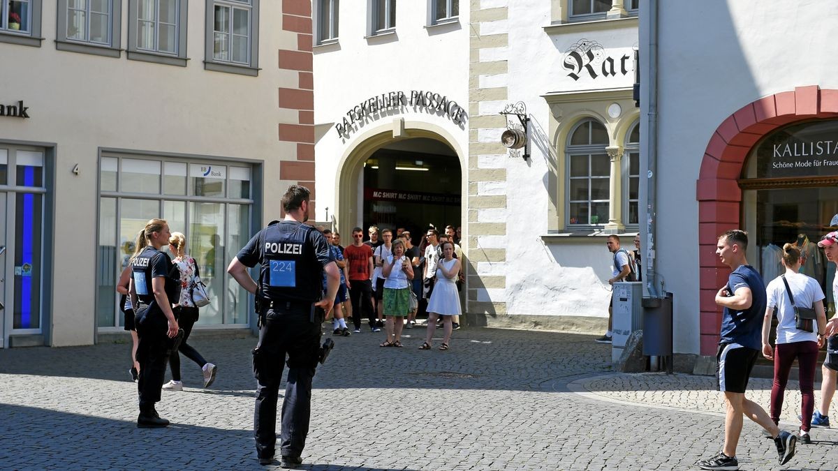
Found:
[[716, 306], [715, 297], [719, 287], [727, 282], [728, 269], [718, 261], [714, 247], [719, 234], [740, 225], [742, 191], [737, 179], [742, 174], [747, 153], [761, 137], [778, 127], [835, 116], [838, 116], [838, 90], [801, 86], [742, 106], [713, 132], [696, 182], [701, 355], [716, 355], [722, 309]]

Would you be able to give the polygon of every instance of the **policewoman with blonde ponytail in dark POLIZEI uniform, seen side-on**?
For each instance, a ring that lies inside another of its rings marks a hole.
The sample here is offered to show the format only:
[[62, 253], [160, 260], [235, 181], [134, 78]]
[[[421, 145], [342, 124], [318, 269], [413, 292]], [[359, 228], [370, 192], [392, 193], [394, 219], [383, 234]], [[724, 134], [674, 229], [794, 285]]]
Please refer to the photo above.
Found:
[[[168, 420], [160, 418], [154, 404], [160, 401], [160, 388], [166, 375], [166, 363], [173, 348], [177, 348], [178, 321], [172, 313], [172, 303], [180, 296], [179, 275], [168, 255], [159, 251], [171, 236], [165, 220], [153, 219], [137, 235], [137, 249], [131, 260], [132, 277], [129, 293], [134, 307], [139, 344], [137, 361], [140, 375], [137, 391], [140, 396], [140, 415], [137, 427], [166, 427]], [[180, 332], [183, 332], [180, 330]]]

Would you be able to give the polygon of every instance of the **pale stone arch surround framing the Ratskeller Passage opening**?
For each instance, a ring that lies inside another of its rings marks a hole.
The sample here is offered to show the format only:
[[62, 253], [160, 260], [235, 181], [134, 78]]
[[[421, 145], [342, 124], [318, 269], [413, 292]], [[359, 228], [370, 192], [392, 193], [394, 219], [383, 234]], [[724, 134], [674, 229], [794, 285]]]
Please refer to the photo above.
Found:
[[462, 171], [462, 181], [460, 182], [460, 194], [462, 195], [462, 203], [460, 207], [460, 215], [463, 218], [463, 238], [468, 237], [468, 210], [466, 210], [466, 197], [468, 195], [468, 156], [463, 153], [457, 140], [451, 132], [445, 128], [431, 124], [428, 122], [414, 122], [406, 121], [404, 123], [404, 130], [401, 132], [394, 130], [393, 123], [384, 124], [378, 127], [370, 128], [361, 133], [354, 139], [354, 142], [349, 145], [344, 151], [338, 162], [337, 175], [335, 178], [335, 207], [338, 208], [338, 230], [341, 234], [351, 234], [352, 228], [358, 218], [358, 211], [362, 210], [361, 197], [358, 192], [358, 180], [360, 179], [361, 171], [364, 168], [364, 163], [370, 156], [378, 149], [390, 142], [411, 139], [414, 137], [428, 137], [446, 144], [452, 148], [460, 164]]

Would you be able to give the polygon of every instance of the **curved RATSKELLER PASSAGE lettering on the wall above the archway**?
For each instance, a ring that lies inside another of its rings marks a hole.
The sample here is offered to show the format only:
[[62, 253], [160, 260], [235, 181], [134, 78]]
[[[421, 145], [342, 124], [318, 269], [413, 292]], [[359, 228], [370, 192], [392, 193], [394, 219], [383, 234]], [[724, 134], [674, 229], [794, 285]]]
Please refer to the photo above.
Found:
[[348, 136], [354, 131], [354, 124], [365, 117], [372, 116], [380, 111], [400, 108], [401, 106], [415, 106], [424, 108], [427, 111], [439, 111], [448, 116], [454, 124], [463, 122], [465, 110], [459, 106], [457, 101], [448, 100], [447, 96], [432, 91], [413, 90], [410, 94], [403, 91], [390, 91], [381, 95], [373, 96], [346, 111], [343, 120], [334, 125], [339, 136]]

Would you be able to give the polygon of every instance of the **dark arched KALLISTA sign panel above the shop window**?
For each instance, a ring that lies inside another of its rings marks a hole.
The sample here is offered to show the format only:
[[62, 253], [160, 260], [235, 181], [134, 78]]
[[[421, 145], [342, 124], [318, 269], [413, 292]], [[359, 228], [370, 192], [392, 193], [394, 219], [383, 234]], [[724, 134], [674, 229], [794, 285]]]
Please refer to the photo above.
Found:
[[757, 178], [838, 175], [838, 121], [806, 122], [774, 132], [757, 148]]

